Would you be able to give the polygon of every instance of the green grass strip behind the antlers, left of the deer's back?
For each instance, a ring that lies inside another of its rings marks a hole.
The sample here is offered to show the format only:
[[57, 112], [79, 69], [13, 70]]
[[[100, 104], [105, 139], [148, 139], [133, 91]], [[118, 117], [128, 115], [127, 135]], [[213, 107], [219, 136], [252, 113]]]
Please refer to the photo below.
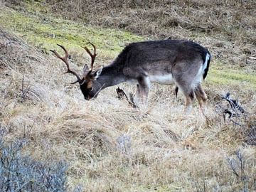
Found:
[[35, 6], [28, 4], [26, 12], [1, 9], [0, 25], [21, 36], [33, 46], [45, 50], [46, 53], [50, 49], [58, 48], [57, 43], [82, 52], [80, 46], [85, 46], [90, 41], [95, 44], [103, 57], [113, 58], [126, 43], [144, 39], [127, 31], [92, 28], [82, 23], [55, 18], [50, 14], [42, 14], [41, 10], [38, 4]]

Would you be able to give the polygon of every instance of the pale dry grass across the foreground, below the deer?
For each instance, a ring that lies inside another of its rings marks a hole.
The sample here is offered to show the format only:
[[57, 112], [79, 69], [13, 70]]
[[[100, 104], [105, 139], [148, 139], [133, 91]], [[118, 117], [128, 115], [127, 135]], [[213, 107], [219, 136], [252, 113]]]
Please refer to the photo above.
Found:
[[[208, 87], [207, 120], [197, 104], [185, 117], [171, 87], [154, 85], [145, 115], [118, 100], [114, 87], [85, 102], [78, 87], [68, 85], [72, 77], [61, 75], [62, 63], [4, 31], [0, 51], [6, 139], [26, 137], [26, 150], [36, 159], [68, 161], [70, 188], [82, 183], [85, 191], [238, 190], [242, 182], [226, 160], [236, 149], [245, 154], [248, 188], [253, 188], [255, 149], [245, 145], [240, 127], [215, 112], [225, 90]], [[250, 113], [254, 101], [252, 95], [246, 102]], [[117, 142], [123, 134], [130, 137], [126, 152]]]

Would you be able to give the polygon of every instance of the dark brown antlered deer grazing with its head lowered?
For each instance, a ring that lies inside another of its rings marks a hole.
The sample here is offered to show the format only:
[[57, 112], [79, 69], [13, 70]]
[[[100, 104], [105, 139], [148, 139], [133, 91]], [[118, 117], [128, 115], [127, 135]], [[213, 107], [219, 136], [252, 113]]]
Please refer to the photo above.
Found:
[[[90, 42], [89, 42], [90, 43]], [[67, 66], [65, 73], [76, 76], [76, 82], [85, 100], [96, 98], [106, 87], [118, 85], [122, 82], [137, 82], [137, 95], [147, 99], [151, 82], [165, 85], [176, 85], [175, 92], [181, 90], [185, 97], [185, 112], [189, 113], [195, 98], [203, 109], [206, 106], [207, 96], [201, 85], [206, 78], [210, 65], [210, 53], [203, 46], [188, 40], [159, 40], [129, 43], [119, 53], [112, 63], [93, 70], [96, 58], [96, 47], [90, 43], [89, 48], [82, 47], [90, 55], [90, 68], [84, 65], [82, 76], [70, 70], [68, 51], [61, 57], [55, 50], [52, 51], [57, 58], [63, 60]]]

